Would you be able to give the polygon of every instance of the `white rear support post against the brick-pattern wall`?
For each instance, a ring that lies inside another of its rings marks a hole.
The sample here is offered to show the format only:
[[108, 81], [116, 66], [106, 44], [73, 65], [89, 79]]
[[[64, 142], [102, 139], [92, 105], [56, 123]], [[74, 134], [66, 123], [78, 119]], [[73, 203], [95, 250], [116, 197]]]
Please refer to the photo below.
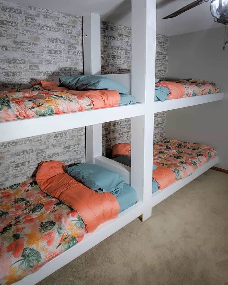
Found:
[[[84, 74], [100, 74], [100, 15], [90, 13], [83, 16], [83, 54]], [[87, 126], [86, 162], [94, 163], [94, 158], [101, 155], [102, 125]]]

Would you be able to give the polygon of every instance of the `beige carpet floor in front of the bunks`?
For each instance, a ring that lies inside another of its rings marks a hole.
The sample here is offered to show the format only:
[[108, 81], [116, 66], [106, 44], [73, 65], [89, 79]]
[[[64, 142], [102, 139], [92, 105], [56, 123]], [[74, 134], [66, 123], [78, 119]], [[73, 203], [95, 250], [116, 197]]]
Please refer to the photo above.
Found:
[[208, 170], [39, 285], [228, 285], [228, 175]]

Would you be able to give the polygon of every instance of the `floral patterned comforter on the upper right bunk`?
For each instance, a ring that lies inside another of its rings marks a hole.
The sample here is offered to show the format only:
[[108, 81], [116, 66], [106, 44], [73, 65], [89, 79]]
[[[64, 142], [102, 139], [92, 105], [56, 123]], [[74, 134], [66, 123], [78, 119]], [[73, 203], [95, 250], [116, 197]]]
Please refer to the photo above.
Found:
[[178, 80], [184, 86], [185, 97], [206, 95], [219, 92], [219, 88], [215, 83], [199, 80], [199, 79], [184, 79]]

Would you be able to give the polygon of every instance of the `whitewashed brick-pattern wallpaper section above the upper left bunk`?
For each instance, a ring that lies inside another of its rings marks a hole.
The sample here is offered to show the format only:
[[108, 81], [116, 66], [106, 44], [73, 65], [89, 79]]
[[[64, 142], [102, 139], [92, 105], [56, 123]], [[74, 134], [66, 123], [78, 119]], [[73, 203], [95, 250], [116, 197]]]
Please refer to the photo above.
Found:
[[0, 1], [0, 88], [83, 71], [82, 17]]

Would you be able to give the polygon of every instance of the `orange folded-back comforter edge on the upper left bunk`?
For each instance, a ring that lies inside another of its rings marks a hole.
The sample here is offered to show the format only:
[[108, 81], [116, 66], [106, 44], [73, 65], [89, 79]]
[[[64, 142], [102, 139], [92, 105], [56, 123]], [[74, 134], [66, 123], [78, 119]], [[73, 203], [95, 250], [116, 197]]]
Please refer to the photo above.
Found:
[[69, 90], [66, 87], [59, 87], [59, 82], [55, 81], [44, 81], [39, 80], [34, 82], [32, 85], [35, 86], [41, 84], [45, 90], [52, 91], [67, 91], [67, 93], [86, 96], [91, 99], [93, 103], [92, 109], [106, 108], [106, 107], [116, 107], [119, 106], [120, 94], [116, 90], [89, 90], [89, 91], [76, 91]]

